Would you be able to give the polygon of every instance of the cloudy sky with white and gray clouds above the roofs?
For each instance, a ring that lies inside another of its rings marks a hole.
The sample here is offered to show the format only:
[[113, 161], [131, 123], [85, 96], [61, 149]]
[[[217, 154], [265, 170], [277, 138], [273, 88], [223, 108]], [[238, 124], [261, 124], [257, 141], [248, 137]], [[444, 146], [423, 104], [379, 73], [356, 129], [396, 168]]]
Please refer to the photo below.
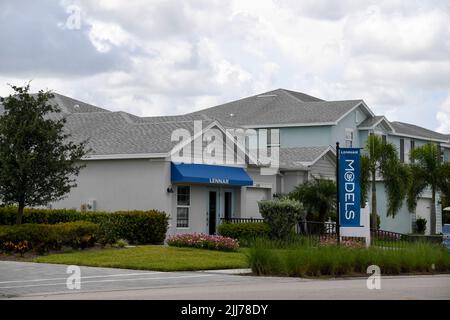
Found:
[[450, 133], [450, 0], [1, 0], [0, 43], [0, 95], [164, 115], [286, 88]]

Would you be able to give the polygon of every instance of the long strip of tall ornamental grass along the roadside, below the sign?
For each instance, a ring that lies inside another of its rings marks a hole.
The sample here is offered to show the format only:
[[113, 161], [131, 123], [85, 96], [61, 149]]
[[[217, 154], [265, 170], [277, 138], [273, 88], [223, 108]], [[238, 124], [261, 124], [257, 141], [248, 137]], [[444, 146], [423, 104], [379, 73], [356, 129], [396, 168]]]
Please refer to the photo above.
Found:
[[332, 244], [318, 246], [267, 246], [256, 241], [249, 250], [250, 268], [257, 275], [320, 277], [366, 275], [377, 265], [382, 275], [450, 272], [450, 253], [427, 243], [402, 248], [355, 247]]

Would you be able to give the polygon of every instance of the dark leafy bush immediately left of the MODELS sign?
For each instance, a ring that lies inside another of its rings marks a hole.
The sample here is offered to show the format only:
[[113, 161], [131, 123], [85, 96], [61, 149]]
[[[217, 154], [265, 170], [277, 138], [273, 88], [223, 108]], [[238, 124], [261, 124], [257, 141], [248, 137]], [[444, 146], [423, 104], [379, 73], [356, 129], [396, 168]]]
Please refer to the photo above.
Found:
[[314, 179], [295, 187], [289, 198], [300, 201], [310, 219], [317, 214], [315, 219], [325, 221], [327, 214], [336, 211], [336, 183], [327, 179]]

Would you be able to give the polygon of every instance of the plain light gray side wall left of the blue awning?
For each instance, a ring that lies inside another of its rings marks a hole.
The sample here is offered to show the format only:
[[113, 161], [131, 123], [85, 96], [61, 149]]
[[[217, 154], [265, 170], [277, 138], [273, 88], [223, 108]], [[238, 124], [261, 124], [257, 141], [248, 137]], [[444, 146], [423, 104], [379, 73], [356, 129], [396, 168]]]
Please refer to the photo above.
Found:
[[170, 212], [170, 162], [163, 159], [90, 160], [76, 188], [53, 208], [80, 210], [95, 200], [96, 211], [150, 210]]

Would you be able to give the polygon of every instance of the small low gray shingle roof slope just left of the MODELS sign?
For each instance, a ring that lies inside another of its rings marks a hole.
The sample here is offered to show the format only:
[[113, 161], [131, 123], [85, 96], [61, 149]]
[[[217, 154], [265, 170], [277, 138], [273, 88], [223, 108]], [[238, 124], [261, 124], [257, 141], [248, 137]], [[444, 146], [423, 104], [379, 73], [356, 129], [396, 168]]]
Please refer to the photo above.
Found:
[[280, 148], [280, 169], [306, 169], [328, 150], [330, 146]]

